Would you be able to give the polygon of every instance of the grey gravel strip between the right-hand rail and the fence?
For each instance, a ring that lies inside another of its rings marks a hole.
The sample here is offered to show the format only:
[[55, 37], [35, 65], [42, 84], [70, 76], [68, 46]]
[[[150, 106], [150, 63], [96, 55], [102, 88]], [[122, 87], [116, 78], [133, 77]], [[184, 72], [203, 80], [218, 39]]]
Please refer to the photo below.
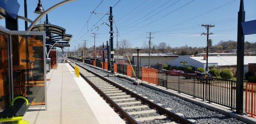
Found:
[[[93, 67], [82, 64], [84, 67], [96, 72], [100, 75], [107, 76], [107, 73], [95, 69]], [[148, 99], [154, 100], [155, 103], [163, 104], [163, 107], [172, 108], [172, 111], [175, 113], [182, 113], [187, 119], [194, 119], [197, 123], [201, 124], [243, 124], [244, 122], [239, 121], [235, 118], [228, 117], [221, 113], [207, 110], [204, 107], [193, 104], [189, 101], [184, 101], [181, 98], [178, 98], [173, 95], [169, 95], [160, 91], [156, 91], [154, 89], [150, 89], [148, 87], [144, 87], [141, 85], [134, 85], [132, 81], [129, 81], [124, 78], [119, 77], [108, 77], [109, 79], [116, 81], [122, 84], [125, 87], [133, 89], [134, 91], [142, 94], [143, 96], [148, 97]], [[150, 121], [150, 123], [153, 123]]]

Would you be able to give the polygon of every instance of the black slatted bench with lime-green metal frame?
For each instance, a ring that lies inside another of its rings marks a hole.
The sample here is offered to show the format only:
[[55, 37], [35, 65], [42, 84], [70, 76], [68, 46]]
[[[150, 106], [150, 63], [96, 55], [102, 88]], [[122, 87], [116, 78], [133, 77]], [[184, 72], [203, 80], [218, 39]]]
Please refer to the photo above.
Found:
[[27, 99], [23, 96], [14, 98], [11, 105], [6, 107], [3, 112], [0, 112], [0, 123], [11, 121], [12, 124], [29, 124], [29, 121], [23, 121], [23, 116], [34, 99], [34, 97]]

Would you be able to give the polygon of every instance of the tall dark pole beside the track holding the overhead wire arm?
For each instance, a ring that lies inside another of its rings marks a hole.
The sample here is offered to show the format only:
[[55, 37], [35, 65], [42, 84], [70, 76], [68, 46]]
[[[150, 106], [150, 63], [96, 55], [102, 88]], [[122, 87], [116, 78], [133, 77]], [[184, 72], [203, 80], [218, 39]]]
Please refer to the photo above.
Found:
[[112, 7], [109, 7], [109, 22], [110, 22], [110, 50], [111, 50], [111, 74], [114, 74], [114, 47], [113, 47], [113, 15], [112, 15]]

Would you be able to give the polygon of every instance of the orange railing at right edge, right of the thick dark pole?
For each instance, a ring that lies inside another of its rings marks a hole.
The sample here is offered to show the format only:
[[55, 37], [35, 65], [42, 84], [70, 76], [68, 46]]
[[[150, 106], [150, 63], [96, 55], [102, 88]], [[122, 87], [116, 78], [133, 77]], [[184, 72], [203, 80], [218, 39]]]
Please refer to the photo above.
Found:
[[245, 86], [245, 112], [256, 117], [256, 84], [246, 83]]

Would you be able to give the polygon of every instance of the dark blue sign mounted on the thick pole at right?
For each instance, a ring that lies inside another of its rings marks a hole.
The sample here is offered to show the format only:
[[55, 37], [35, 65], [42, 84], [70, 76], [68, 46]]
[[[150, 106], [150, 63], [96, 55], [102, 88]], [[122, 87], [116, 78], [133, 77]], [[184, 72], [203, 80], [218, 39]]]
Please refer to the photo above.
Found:
[[256, 34], [256, 20], [251, 20], [242, 23], [244, 35]]

